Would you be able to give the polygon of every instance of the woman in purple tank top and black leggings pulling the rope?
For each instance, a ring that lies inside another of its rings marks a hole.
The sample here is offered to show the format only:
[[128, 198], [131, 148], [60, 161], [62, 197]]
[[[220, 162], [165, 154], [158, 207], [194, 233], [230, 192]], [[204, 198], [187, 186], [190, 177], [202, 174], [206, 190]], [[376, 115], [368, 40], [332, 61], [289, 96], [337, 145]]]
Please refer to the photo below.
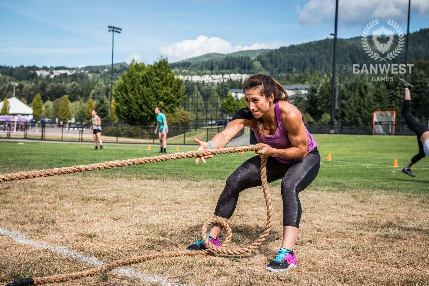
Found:
[[[261, 186], [259, 176], [261, 157], [268, 157], [268, 183], [282, 179], [281, 196], [283, 198], [283, 243], [277, 250], [275, 258], [266, 265], [269, 271], [286, 271], [297, 265], [293, 245], [298, 236], [299, 220], [301, 218], [301, 203], [298, 193], [308, 187], [316, 178], [320, 167], [320, 155], [317, 143], [304, 126], [301, 112], [288, 101], [287, 91], [270, 76], [257, 74], [245, 82], [246, 108], [239, 110], [233, 120], [210, 141], [199, 144], [198, 150], [223, 148], [245, 126], [255, 132], [257, 145], [263, 149], [255, 151], [259, 154], [245, 161], [231, 176], [218, 204], [214, 218], [225, 222], [233, 215], [239, 194], [242, 190]], [[205, 163], [208, 155], [196, 158]], [[222, 227], [218, 224], [211, 226], [207, 234], [208, 240], [216, 246], [220, 245]], [[208, 247], [203, 240], [188, 246], [186, 250], [205, 250]]]

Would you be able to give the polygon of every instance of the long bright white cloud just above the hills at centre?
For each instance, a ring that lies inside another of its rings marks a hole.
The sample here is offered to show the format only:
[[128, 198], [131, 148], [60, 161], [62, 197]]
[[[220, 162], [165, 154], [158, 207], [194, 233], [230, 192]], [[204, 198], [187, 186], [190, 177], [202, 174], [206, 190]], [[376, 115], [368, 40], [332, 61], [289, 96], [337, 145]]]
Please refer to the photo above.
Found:
[[161, 46], [159, 53], [168, 57], [169, 61], [174, 62], [207, 53], [228, 54], [244, 50], [276, 49], [280, 46], [287, 46], [287, 44], [275, 41], [272, 43], [254, 43], [251, 46], [233, 46], [230, 42], [218, 37], [199, 36], [195, 40], [183, 40], [171, 46]]

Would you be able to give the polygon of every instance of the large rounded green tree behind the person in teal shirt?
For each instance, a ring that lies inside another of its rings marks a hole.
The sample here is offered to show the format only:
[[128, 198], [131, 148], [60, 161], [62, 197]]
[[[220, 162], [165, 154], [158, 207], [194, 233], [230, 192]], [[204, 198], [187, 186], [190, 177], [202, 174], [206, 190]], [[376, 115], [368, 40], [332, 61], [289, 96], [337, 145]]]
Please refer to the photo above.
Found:
[[153, 65], [132, 62], [115, 84], [116, 112], [130, 125], [149, 125], [161, 101], [166, 113], [184, 103], [182, 91], [183, 83], [175, 78], [166, 59]]

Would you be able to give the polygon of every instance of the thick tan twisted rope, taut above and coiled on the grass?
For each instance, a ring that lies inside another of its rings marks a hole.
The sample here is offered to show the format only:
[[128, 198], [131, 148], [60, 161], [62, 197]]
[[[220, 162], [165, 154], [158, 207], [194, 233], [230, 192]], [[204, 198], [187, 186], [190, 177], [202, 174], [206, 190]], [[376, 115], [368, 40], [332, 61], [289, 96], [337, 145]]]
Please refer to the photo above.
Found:
[[[81, 165], [81, 166], [74, 166], [74, 167], [55, 168], [51, 170], [11, 173], [6, 175], [0, 175], [0, 181], [3, 180], [1, 182], [4, 182], [4, 181], [12, 181], [12, 180], [24, 180], [24, 179], [30, 179], [30, 178], [40, 177], [40, 176], [54, 176], [59, 174], [86, 172], [86, 171], [93, 171], [93, 170], [104, 170], [104, 169], [110, 169], [115, 167], [154, 163], [154, 162], [160, 162], [160, 161], [175, 160], [180, 158], [202, 157], [202, 156], [216, 155], [216, 154], [230, 154], [235, 152], [249, 152], [249, 151], [257, 151], [260, 149], [262, 149], [261, 146], [249, 145], [249, 146], [243, 146], [243, 147], [230, 147], [230, 148], [220, 148], [220, 149], [208, 149], [208, 150], [202, 150], [202, 151], [181, 152], [181, 153], [175, 153], [175, 154], [169, 154], [169, 155], [159, 155], [159, 156], [130, 159], [130, 160], [110, 161], [106, 163], [90, 164], [90, 165], [84, 165], [84, 166]], [[143, 256], [136, 256], [132, 258], [120, 259], [120, 260], [111, 262], [109, 264], [106, 264], [97, 268], [92, 268], [86, 271], [79, 271], [79, 272], [73, 272], [69, 274], [59, 274], [59, 275], [52, 275], [52, 276], [45, 276], [45, 277], [25, 278], [25, 279], [21, 279], [21, 280], [17, 280], [12, 283], [9, 283], [6, 286], [24, 286], [24, 285], [31, 285], [31, 284], [41, 285], [45, 283], [65, 282], [69, 279], [88, 277], [88, 276], [97, 274], [101, 271], [111, 271], [118, 267], [143, 262], [145, 260], [154, 259], [157, 257], [178, 257], [178, 256], [199, 256], [199, 255], [230, 256], [230, 255], [243, 255], [245, 253], [248, 253], [252, 249], [257, 248], [264, 240], [266, 240], [272, 226], [273, 210], [272, 210], [272, 203], [271, 203], [271, 195], [269, 193], [268, 182], [266, 178], [266, 162], [267, 162], [267, 157], [263, 157], [261, 160], [261, 168], [260, 168], [262, 189], [263, 189], [266, 208], [267, 208], [266, 226], [264, 231], [260, 235], [260, 237], [258, 237], [257, 240], [255, 240], [253, 243], [247, 246], [244, 246], [241, 248], [226, 247], [231, 242], [231, 236], [232, 236], [231, 228], [227, 222], [221, 219], [213, 218], [205, 222], [201, 230], [202, 239], [205, 245], [209, 247], [209, 249], [207, 250], [174, 251], [174, 252], [154, 253], [154, 254], [148, 254]], [[214, 223], [222, 225], [224, 227], [224, 230], [226, 231], [226, 238], [224, 242], [221, 244], [221, 246], [213, 245], [210, 242], [210, 240], [208, 240], [207, 238], [207, 231], [210, 225]]]

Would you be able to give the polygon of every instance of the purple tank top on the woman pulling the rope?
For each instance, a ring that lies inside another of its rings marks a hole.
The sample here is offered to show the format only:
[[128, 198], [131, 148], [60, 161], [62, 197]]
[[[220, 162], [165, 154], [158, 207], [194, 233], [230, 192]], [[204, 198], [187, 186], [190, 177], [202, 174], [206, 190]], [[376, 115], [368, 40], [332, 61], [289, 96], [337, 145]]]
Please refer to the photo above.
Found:
[[[269, 146], [276, 148], [276, 149], [287, 149], [290, 147], [293, 147], [292, 143], [289, 141], [289, 137], [287, 136], [287, 131], [284, 129], [283, 123], [281, 122], [280, 117], [280, 108], [278, 107], [278, 101], [274, 101], [275, 105], [275, 116], [277, 118], [277, 130], [272, 135], [265, 135], [265, 141], [263, 140], [263, 137], [259, 130], [254, 125], [252, 127], [252, 130], [255, 132], [256, 140], [260, 143], [268, 144]], [[319, 146], [314, 140], [313, 136], [308, 132], [307, 128], [305, 128], [305, 131], [307, 132], [307, 152], [311, 152], [314, 149], [316, 149], [317, 146]], [[293, 159], [285, 159], [285, 158], [279, 158], [275, 157], [279, 162], [283, 164], [289, 164], [293, 161]]]

